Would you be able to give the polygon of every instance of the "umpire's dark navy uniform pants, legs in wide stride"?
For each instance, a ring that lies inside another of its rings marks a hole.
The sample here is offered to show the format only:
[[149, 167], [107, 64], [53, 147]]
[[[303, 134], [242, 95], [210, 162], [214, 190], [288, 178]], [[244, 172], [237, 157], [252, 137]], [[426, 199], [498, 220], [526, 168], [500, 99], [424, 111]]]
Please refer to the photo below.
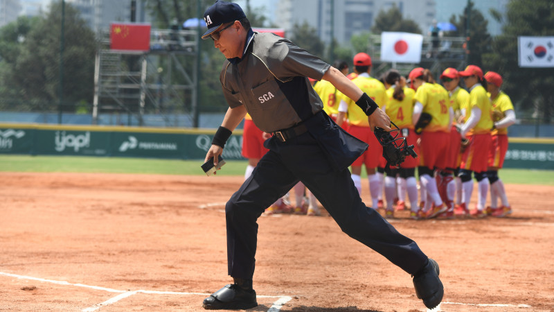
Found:
[[414, 241], [397, 232], [375, 209], [366, 207], [348, 168], [341, 171], [332, 168], [310, 132], [285, 142], [272, 137], [266, 147], [269, 152], [225, 207], [231, 277], [252, 279], [258, 235], [256, 220], [298, 181], [314, 193], [342, 231], [353, 239], [411, 275], [427, 264], [427, 256]]

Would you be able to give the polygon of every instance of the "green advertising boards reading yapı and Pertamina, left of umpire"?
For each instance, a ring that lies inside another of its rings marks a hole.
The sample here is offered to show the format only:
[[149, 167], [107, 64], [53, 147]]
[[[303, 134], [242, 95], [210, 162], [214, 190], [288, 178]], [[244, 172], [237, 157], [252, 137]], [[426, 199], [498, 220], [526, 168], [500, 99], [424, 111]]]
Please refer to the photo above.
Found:
[[[2, 128], [0, 154], [82, 155], [114, 157], [150, 157], [172, 159], [204, 159], [213, 134], [182, 131], [127, 132], [93, 130], [91, 127], [41, 126]], [[215, 132], [215, 131], [214, 131]], [[242, 135], [232, 135], [223, 151], [225, 159], [242, 157]]]

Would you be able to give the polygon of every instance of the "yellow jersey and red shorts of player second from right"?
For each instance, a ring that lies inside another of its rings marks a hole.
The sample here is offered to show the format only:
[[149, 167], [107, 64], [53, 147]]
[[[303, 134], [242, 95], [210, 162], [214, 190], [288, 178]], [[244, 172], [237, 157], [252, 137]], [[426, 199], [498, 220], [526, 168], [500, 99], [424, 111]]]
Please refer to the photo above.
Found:
[[474, 172], [487, 171], [488, 155], [490, 151], [492, 128], [492, 105], [487, 96], [487, 92], [482, 85], [475, 85], [470, 92], [470, 103], [465, 108], [465, 121], [470, 119], [473, 107], [479, 107], [481, 110], [481, 119], [470, 132], [467, 132], [467, 139], [470, 145], [467, 146], [462, 155], [460, 168]]

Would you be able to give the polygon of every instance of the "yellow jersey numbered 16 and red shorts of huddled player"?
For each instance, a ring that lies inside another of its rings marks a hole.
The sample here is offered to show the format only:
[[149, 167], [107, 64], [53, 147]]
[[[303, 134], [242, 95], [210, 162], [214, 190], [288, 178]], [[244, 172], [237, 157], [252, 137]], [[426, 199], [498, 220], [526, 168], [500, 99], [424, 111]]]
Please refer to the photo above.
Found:
[[423, 105], [423, 111], [433, 118], [421, 133], [420, 166], [431, 170], [446, 168], [449, 144], [450, 101], [446, 89], [434, 83], [424, 83], [413, 96], [414, 103]]

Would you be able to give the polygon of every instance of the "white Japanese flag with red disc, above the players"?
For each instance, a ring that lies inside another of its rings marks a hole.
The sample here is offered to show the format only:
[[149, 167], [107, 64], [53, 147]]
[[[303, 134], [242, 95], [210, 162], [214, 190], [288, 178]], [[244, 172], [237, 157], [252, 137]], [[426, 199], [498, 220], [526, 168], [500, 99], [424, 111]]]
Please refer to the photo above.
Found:
[[381, 60], [386, 62], [419, 63], [423, 36], [416, 33], [381, 33]]

